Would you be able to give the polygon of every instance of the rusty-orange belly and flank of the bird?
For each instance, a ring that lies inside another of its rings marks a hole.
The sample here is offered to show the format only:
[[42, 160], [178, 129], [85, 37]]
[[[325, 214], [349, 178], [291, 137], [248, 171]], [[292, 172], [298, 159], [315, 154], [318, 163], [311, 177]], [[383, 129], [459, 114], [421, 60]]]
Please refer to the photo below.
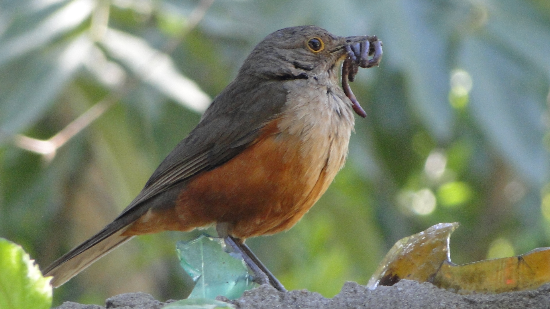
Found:
[[298, 136], [279, 133], [273, 121], [238, 156], [189, 181], [175, 207], [147, 212], [125, 234], [188, 231], [227, 222], [229, 234], [244, 239], [291, 228], [335, 174], [326, 177], [329, 152], [304, 154], [301, 143]]

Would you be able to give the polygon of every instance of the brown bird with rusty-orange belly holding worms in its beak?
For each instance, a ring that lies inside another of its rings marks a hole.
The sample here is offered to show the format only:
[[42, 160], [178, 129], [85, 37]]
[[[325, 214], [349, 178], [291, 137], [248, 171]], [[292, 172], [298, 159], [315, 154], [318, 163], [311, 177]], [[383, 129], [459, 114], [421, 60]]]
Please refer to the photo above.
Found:
[[290, 229], [332, 183], [348, 154], [353, 112], [366, 116], [348, 80], [358, 66], [378, 65], [381, 46], [376, 36], [317, 26], [268, 35], [128, 207], [43, 270], [52, 286], [136, 235], [216, 227], [257, 282], [285, 290], [244, 240]]

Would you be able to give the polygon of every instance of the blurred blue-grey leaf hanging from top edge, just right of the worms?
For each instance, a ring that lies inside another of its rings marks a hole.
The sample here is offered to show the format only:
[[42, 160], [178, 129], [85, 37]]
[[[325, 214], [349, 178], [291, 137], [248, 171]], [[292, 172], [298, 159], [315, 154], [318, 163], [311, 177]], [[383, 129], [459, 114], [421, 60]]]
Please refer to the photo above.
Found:
[[427, 0], [387, 1], [378, 8], [387, 23], [378, 26], [385, 64], [406, 73], [412, 108], [438, 139], [448, 139], [454, 115], [445, 104], [449, 78], [445, 41], [452, 28], [438, 20], [452, 20], [453, 10], [438, 9], [436, 2]]

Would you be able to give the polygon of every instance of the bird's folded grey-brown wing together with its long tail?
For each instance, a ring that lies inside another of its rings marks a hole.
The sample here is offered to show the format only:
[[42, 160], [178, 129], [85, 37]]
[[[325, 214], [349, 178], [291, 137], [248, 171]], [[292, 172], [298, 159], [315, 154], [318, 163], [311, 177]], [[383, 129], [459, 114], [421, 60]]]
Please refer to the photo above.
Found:
[[[194, 175], [211, 170], [243, 151], [260, 134], [263, 125], [281, 112], [287, 91], [283, 82], [241, 78], [220, 93], [201, 122], [180, 142], [155, 170], [140, 194], [105, 228], [43, 271], [59, 286], [83, 271], [98, 258], [128, 241], [123, 235], [147, 209], [153, 197]], [[169, 195], [169, 194], [167, 194]]]

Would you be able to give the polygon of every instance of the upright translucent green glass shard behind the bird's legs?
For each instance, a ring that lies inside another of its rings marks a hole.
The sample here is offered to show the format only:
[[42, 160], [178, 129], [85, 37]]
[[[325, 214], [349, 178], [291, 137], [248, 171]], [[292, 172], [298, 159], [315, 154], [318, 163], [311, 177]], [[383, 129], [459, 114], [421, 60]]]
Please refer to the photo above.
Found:
[[256, 288], [248, 267], [239, 253], [227, 253], [221, 238], [202, 234], [176, 245], [180, 264], [195, 282], [189, 299], [238, 299], [243, 292]]

